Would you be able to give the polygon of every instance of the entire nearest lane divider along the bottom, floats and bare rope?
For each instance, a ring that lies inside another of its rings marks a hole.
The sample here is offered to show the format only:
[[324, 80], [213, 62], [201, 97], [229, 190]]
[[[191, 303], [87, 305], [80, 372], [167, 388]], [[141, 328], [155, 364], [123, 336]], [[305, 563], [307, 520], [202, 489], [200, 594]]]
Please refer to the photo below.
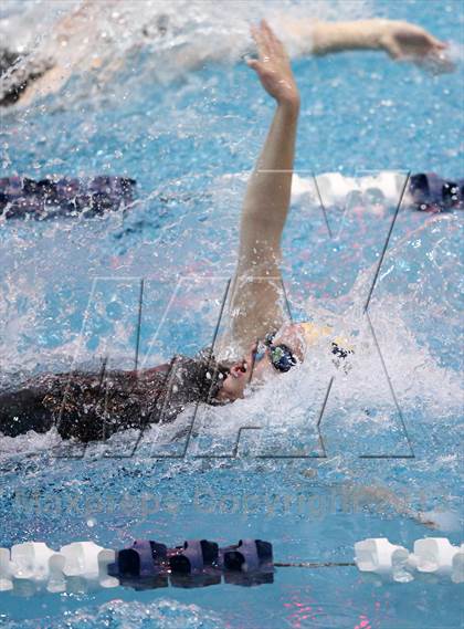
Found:
[[35, 589], [63, 593], [76, 579], [81, 587], [88, 583], [92, 588], [203, 587], [222, 578], [229, 584], [261, 585], [273, 583], [276, 567], [334, 566], [357, 566], [362, 573], [399, 583], [423, 574], [457, 584], [464, 581], [464, 544], [453, 546], [446, 537], [425, 537], [414, 542], [410, 553], [386, 537], [377, 537], [355, 544], [354, 563], [284, 564], [274, 562], [272, 544], [262, 539], [241, 539], [225, 547], [208, 539], [190, 539], [175, 548], [137, 539], [119, 551], [94, 542], [74, 542], [59, 552], [43, 542], [27, 542], [11, 551], [0, 548], [0, 591], [21, 590], [31, 583]]

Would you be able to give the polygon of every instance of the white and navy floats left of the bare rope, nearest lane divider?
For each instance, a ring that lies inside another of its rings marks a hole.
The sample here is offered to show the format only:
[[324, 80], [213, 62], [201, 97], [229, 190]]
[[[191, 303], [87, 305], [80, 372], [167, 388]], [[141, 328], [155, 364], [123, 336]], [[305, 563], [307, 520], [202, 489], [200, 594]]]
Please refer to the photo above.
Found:
[[[272, 544], [262, 539], [241, 539], [223, 548], [208, 539], [190, 539], [175, 548], [150, 539], [137, 539], [120, 551], [103, 548], [94, 542], [74, 542], [59, 552], [43, 542], [15, 544], [11, 552], [0, 548], [2, 591], [24, 580], [40, 583], [49, 591], [65, 591], [67, 580], [73, 578], [104, 588], [141, 587], [144, 580], [154, 578], [159, 580], [158, 587], [164, 587], [168, 577], [171, 585], [180, 587], [212, 585], [220, 583], [222, 576], [226, 583], [257, 585], [272, 581], [273, 573]], [[236, 578], [238, 575], [243, 578]]]

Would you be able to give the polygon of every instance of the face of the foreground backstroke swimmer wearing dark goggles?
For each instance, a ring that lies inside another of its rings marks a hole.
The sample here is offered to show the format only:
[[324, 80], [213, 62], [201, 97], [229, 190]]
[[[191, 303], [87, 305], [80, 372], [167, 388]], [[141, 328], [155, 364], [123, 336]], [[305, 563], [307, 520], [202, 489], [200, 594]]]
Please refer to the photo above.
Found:
[[[295, 358], [303, 363], [305, 345], [302, 328], [298, 324], [288, 324], [280, 329], [273, 340], [273, 345], [280, 344], [286, 345]], [[218, 399], [234, 401], [244, 397], [247, 385], [259, 385], [268, 378], [281, 378], [285, 375], [278, 371], [272, 364], [270, 349], [265, 350], [260, 360], [256, 360], [256, 349], [257, 345], [254, 343], [250, 347], [250, 353], [242, 360], [231, 366], [230, 373], [219, 391]]]

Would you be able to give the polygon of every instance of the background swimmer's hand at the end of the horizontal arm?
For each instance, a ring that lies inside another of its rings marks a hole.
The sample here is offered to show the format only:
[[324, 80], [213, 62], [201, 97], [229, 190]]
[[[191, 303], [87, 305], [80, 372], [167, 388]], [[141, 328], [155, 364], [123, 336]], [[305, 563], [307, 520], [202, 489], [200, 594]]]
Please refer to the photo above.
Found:
[[434, 72], [452, 72], [447, 45], [415, 24], [386, 21], [379, 45], [396, 61], [412, 61]]

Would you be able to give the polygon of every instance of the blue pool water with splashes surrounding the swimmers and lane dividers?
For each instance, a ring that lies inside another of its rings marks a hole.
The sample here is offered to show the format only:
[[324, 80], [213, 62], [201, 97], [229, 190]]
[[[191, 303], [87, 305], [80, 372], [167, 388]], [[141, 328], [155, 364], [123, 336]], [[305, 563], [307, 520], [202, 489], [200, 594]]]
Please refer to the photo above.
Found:
[[[147, 7], [151, 18], [161, 11]], [[211, 54], [201, 67], [182, 70], [172, 61], [177, 44], [127, 50], [114, 42], [123, 64], [110, 84], [98, 90], [73, 76], [59, 94], [3, 116], [4, 175], [125, 175], [137, 180], [138, 196], [126, 211], [94, 219], [0, 221], [2, 385], [73, 364], [98, 368], [103, 359], [131, 368], [141, 280], [140, 366], [193, 355], [212, 342], [234, 269], [246, 175], [272, 115], [225, 34], [244, 41], [246, 21], [265, 14], [266, 4], [229, 2], [226, 19], [209, 3], [160, 7], [180, 29], [179, 45], [197, 44], [200, 33], [211, 50], [222, 41], [224, 59]], [[11, 8], [21, 24], [18, 3]], [[294, 2], [282, 11], [312, 13]], [[452, 42], [456, 71], [432, 76], [376, 53], [295, 59], [298, 177], [383, 170], [462, 177], [461, 3], [334, 1], [317, 3], [317, 11], [416, 21]], [[138, 19], [133, 38], [145, 18]], [[355, 542], [366, 537], [410, 549], [430, 535], [460, 544], [462, 213], [400, 209], [368, 318], [363, 306], [396, 206], [345, 210], [328, 210], [337, 234], [330, 238], [320, 206], [295, 192], [284, 237], [293, 318], [336, 323], [357, 347], [351, 370], [336, 376], [323, 441], [316, 424], [334, 369], [318, 352], [278, 389], [199, 409], [190, 438], [189, 409], [166, 433], [155, 427], [144, 434], [135, 453], [131, 432], [73, 450], [54, 433], [0, 438], [0, 547], [45, 541], [59, 548], [88, 538], [117, 548], [136, 537], [225, 545], [255, 537], [272, 542], [281, 563], [340, 563], [351, 562]], [[236, 447], [243, 428], [250, 430]], [[418, 522], [418, 512], [440, 528]], [[278, 568], [272, 585], [251, 588], [23, 594], [0, 594], [0, 626], [462, 622], [462, 586], [450, 579], [397, 584], [355, 567]]]

